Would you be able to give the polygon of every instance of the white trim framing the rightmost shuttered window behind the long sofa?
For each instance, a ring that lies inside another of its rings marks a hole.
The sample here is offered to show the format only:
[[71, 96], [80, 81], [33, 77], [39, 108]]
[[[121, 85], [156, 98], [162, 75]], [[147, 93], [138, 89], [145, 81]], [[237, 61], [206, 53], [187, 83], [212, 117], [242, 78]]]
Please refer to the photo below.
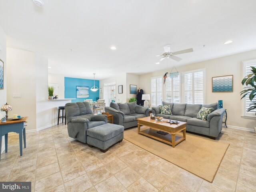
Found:
[[200, 72], [200, 71], [203, 71], [203, 82], [204, 82], [203, 83], [203, 104], [205, 104], [205, 101], [206, 101], [206, 68], [181, 72], [181, 95], [182, 95], [182, 98], [181, 98], [180, 103], [185, 103], [185, 86], [184, 86], [184, 78], [183, 78], [184, 75], [187, 73]]

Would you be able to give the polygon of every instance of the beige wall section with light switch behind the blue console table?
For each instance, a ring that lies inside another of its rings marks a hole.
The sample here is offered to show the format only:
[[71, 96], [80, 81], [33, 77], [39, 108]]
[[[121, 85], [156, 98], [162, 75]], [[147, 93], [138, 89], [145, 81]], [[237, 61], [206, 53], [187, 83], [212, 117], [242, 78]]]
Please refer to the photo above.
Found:
[[[34, 52], [7, 48], [7, 102], [13, 114], [28, 116], [26, 130], [36, 129], [36, 54]], [[21, 94], [14, 98], [13, 94]]]

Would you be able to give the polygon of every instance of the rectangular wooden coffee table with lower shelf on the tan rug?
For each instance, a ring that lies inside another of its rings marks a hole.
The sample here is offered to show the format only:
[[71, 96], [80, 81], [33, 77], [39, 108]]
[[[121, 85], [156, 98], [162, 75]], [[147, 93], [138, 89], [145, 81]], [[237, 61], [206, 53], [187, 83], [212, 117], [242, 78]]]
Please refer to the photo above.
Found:
[[[186, 122], [180, 122], [179, 124], [170, 124], [167, 122], [156, 121], [150, 119], [150, 117], [139, 118], [138, 120], [138, 134], [146, 135], [148, 137], [154, 138], [156, 140], [162, 141], [164, 143], [175, 145], [186, 140]], [[165, 120], [165, 119], [164, 119]], [[140, 131], [140, 126], [147, 126], [149, 129]], [[167, 135], [158, 134], [157, 131], [161, 130], [168, 132]], [[182, 131], [182, 135], [176, 135], [178, 132]]]

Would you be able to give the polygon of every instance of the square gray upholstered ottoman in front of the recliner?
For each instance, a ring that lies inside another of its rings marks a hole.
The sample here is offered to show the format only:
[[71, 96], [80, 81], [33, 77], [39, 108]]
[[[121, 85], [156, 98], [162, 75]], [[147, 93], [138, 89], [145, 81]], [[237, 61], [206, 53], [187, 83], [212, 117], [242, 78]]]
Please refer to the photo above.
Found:
[[108, 151], [108, 148], [124, 138], [124, 126], [106, 123], [87, 130], [87, 144], [89, 147], [100, 148], [101, 152]]

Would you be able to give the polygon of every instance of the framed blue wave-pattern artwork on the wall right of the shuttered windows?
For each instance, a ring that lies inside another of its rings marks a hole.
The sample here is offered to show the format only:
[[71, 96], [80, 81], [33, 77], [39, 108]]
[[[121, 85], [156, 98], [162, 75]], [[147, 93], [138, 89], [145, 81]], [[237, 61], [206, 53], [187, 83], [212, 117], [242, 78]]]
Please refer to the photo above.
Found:
[[213, 77], [212, 92], [233, 92], [233, 75]]

